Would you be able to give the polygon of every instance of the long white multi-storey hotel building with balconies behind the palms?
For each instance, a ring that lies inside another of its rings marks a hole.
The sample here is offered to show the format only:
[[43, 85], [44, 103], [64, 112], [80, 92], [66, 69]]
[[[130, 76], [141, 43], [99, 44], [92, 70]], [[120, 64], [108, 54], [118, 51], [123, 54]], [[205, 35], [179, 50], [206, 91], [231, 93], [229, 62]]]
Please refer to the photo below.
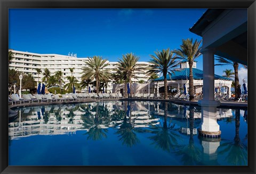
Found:
[[[81, 76], [83, 72], [82, 68], [86, 66], [85, 62], [89, 60], [88, 57], [77, 58], [76, 56], [66, 56], [58, 54], [37, 54], [17, 50], [11, 51], [13, 53], [14, 58], [11, 60], [9, 68], [17, 69], [19, 72], [23, 74], [32, 74], [36, 82], [42, 81], [42, 78], [44, 77], [44, 69], [48, 68], [51, 72], [51, 75], [54, 75], [57, 71], [61, 71], [63, 73], [63, 81], [65, 82], [64, 84], [66, 84], [68, 83], [67, 76], [71, 75], [69, 68], [73, 67], [75, 68], [73, 75], [76, 77], [78, 82], [81, 82]], [[109, 64], [109, 66], [107, 66], [106, 68], [109, 69], [111, 73], [116, 73], [114, 69], [117, 67], [117, 62], [107, 61], [106, 63]], [[146, 67], [149, 66], [148, 62], [138, 62], [138, 64], [145, 66], [145, 68], [143, 69], [146, 69]], [[40, 68], [42, 71], [39, 74], [39, 79], [36, 68]], [[149, 78], [146, 75], [146, 71], [135, 72], [135, 75], [137, 76], [138, 79], [132, 78], [133, 83], [139, 82], [140, 80], [147, 82]], [[111, 82], [109, 82], [107, 89], [108, 92], [113, 89], [113, 85], [111, 84]]]

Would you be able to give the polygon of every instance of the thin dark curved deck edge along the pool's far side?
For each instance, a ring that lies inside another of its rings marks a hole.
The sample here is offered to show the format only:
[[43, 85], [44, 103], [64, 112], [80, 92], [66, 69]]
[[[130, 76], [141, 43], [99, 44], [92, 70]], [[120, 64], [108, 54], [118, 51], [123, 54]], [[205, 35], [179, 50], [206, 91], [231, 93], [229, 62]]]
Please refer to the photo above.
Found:
[[[14, 107], [26, 107], [26, 106], [38, 106], [38, 105], [59, 105], [59, 104], [69, 104], [69, 103], [85, 103], [85, 102], [95, 102], [95, 101], [167, 101], [173, 102], [182, 105], [195, 105], [198, 106], [198, 100], [196, 101], [187, 101], [187, 100], [179, 100], [179, 99], [140, 99], [140, 98], [122, 98], [122, 99], [83, 99], [77, 101], [53, 101], [53, 102], [30, 102], [30, 103], [22, 103], [17, 105], [9, 105], [9, 109]], [[220, 107], [229, 107], [229, 108], [247, 108], [248, 102], [235, 102], [235, 101], [220, 101]]]

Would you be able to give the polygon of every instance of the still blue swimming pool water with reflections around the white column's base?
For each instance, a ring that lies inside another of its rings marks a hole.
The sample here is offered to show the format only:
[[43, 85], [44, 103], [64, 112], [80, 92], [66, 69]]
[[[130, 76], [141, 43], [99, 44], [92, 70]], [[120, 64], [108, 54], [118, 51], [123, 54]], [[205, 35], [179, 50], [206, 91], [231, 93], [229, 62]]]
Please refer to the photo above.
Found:
[[9, 166], [247, 166], [244, 109], [217, 108], [221, 138], [214, 139], [198, 136], [201, 107], [171, 102], [15, 110], [18, 118], [9, 123]]

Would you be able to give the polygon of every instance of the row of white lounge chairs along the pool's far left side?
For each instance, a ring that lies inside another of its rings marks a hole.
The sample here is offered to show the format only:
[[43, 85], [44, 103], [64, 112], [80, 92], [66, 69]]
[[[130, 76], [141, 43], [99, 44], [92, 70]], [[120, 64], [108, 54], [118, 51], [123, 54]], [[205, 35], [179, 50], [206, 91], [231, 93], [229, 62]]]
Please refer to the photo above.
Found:
[[22, 98], [18, 94], [12, 94], [12, 98], [9, 98], [9, 103], [15, 105], [18, 103], [22, 104], [25, 102], [53, 102], [53, 101], [77, 101], [84, 99], [121, 99], [124, 98], [121, 93], [67, 93], [67, 94], [23, 94]]

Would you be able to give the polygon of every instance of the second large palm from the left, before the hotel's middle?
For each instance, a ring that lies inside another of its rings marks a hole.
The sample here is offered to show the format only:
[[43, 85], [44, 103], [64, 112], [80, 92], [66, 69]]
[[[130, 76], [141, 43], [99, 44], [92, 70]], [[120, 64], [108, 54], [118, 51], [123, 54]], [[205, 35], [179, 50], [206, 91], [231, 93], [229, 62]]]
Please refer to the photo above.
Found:
[[135, 72], [142, 72], [142, 66], [137, 64], [138, 60], [138, 56], [133, 53], [127, 53], [126, 55], [123, 55], [122, 59], [119, 59], [117, 64], [119, 71], [127, 75], [130, 86], [132, 84], [132, 77], [136, 77]]

